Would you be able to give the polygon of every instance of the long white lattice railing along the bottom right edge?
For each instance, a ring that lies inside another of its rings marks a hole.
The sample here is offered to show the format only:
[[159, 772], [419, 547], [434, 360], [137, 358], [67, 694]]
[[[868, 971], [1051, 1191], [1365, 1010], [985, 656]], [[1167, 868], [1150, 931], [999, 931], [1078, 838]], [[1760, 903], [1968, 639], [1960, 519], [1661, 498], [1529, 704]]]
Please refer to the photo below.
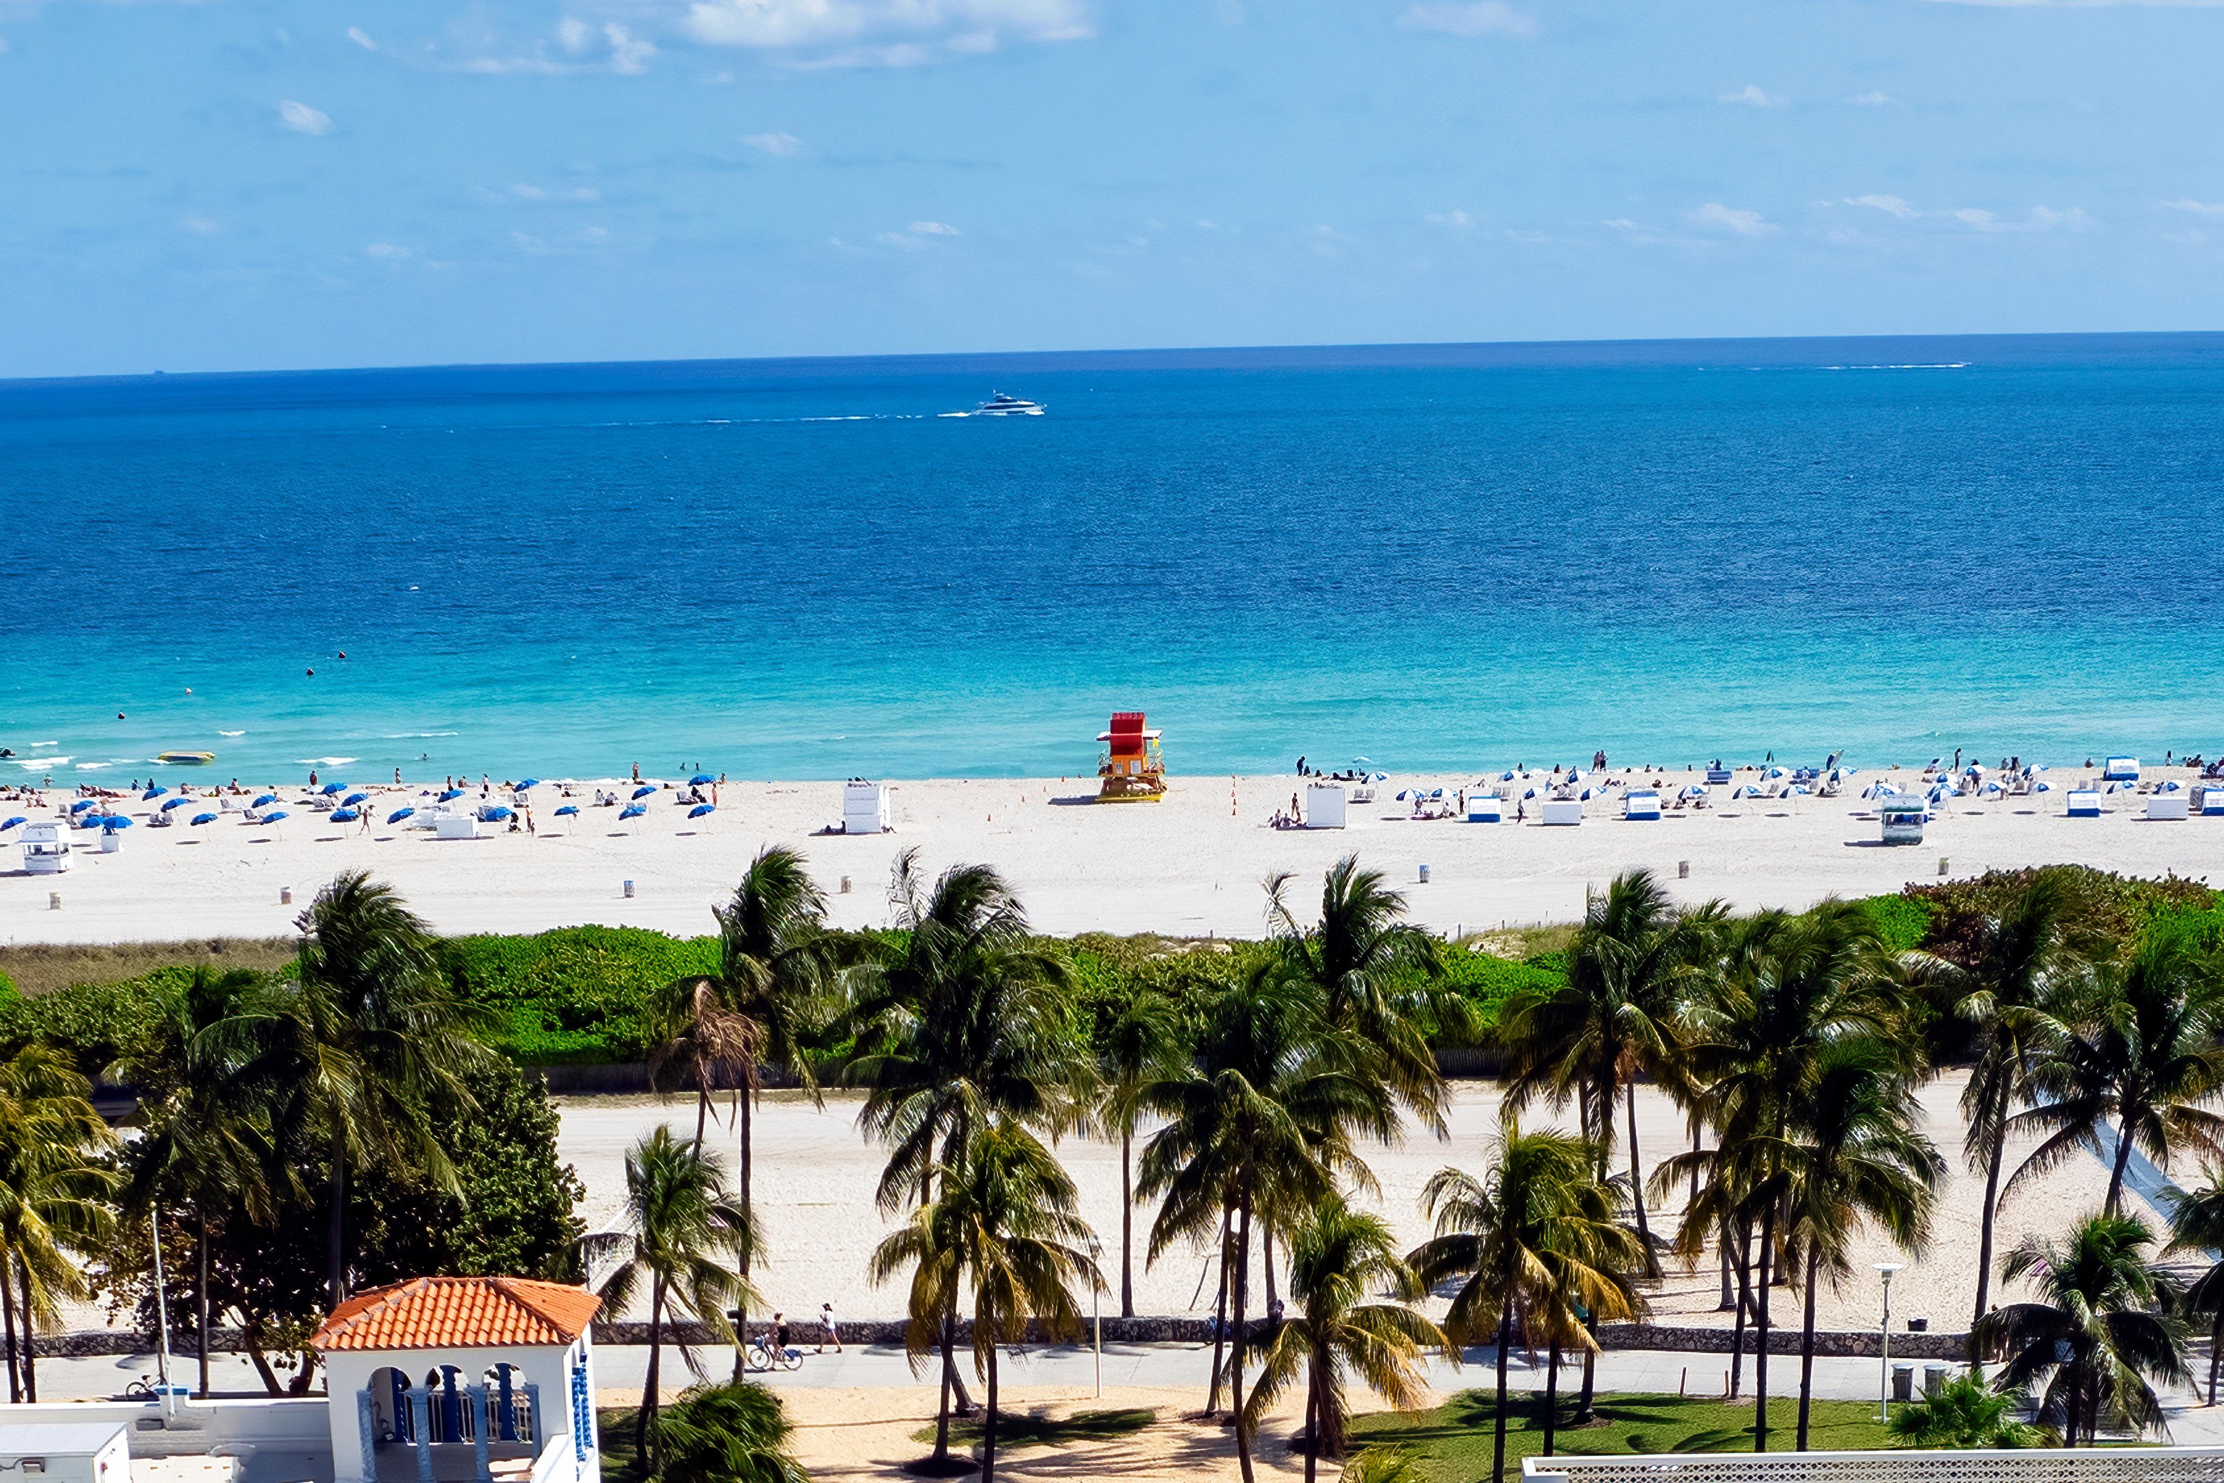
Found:
[[1535, 1483], [2217, 1483], [2224, 1447], [1532, 1456]]

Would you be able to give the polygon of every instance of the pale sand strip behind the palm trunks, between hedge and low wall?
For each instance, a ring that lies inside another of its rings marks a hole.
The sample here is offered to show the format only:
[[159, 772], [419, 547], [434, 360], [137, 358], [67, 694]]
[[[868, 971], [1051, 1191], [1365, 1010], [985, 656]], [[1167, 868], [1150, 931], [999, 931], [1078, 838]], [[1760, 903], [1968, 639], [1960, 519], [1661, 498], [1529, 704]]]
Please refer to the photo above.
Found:
[[[1922, 1098], [1928, 1134], [1939, 1143], [1950, 1170], [1937, 1201], [1930, 1252], [1917, 1261], [1895, 1252], [1890, 1241], [1882, 1236], [1864, 1236], [1853, 1252], [1855, 1276], [1844, 1287], [1824, 1290], [1819, 1296], [1817, 1321], [1821, 1327], [1875, 1325], [1879, 1294], [1870, 1265], [1877, 1261], [1906, 1263], [1906, 1270], [1893, 1278], [1893, 1312], [1897, 1316], [1928, 1316], [1935, 1330], [1959, 1332], [1968, 1325], [1977, 1292], [1977, 1207], [1984, 1181], [1962, 1167], [1957, 1098], [1964, 1085], [1966, 1074], [1955, 1072], [1933, 1083]], [[1381, 1210], [1403, 1245], [1419, 1245], [1430, 1234], [1419, 1210], [1421, 1185], [1430, 1174], [1446, 1165], [1477, 1174], [1483, 1170], [1486, 1145], [1497, 1132], [1499, 1103], [1497, 1085], [1454, 1083], [1448, 1141], [1408, 1136], [1399, 1147], [1368, 1154], [1381, 1192], [1363, 1203]], [[823, 1112], [812, 1109], [798, 1094], [781, 1094], [770, 1098], [756, 1118], [756, 1205], [770, 1247], [756, 1267], [756, 1283], [765, 1301], [785, 1310], [790, 1318], [810, 1321], [827, 1301], [845, 1318], [903, 1316], [901, 1283], [872, 1287], [865, 1281], [867, 1254], [892, 1230], [892, 1221], [881, 1216], [872, 1203], [885, 1154], [858, 1136], [856, 1107], [854, 1092], [830, 1096]], [[1570, 1116], [1535, 1109], [1528, 1114], [1528, 1125], [1568, 1125]], [[676, 1132], [692, 1132], [694, 1101], [565, 1098], [558, 1152], [578, 1167], [587, 1185], [580, 1216], [589, 1225], [605, 1225], [618, 1214], [625, 1194], [625, 1147], [665, 1121]], [[1639, 1141], [1648, 1170], [1677, 1147], [1688, 1147], [1681, 1116], [1652, 1092], [1639, 1096]], [[714, 1145], [732, 1161], [732, 1136], [718, 1136]], [[2024, 1147], [2010, 1149], [2010, 1167], [2024, 1152]], [[1083, 1214], [1103, 1241], [1103, 1265], [1112, 1281], [1105, 1312], [1116, 1314], [1119, 1145], [1070, 1138], [1059, 1147], [1059, 1156], [1081, 1185]], [[2002, 1207], [1997, 1252], [2006, 1252], [2026, 1232], [2064, 1230], [2077, 1214], [2097, 1210], [2106, 1187], [2108, 1170], [2099, 1161], [2075, 1158], [2017, 1190]], [[1666, 1210], [1655, 1210], [1657, 1234], [1672, 1232], [1679, 1203], [1672, 1201]], [[2137, 1203], [2133, 1207], [2153, 1221], [2148, 1210]], [[1156, 1265], [1145, 1267], [1141, 1252], [1152, 1216], [1154, 1207], [1148, 1205], [1134, 1212], [1136, 1312], [1208, 1316], [1214, 1287], [1210, 1281], [1201, 1281], [1208, 1276], [1203, 1252], [1181, 1245], [1161, 1256]], [[1259, 1281], [1259, 1301], [1263, 1303], [1263, 1274]], [[1655, 1318], [1726, 1327], [1730, 1316], [1715, 1312], [1715, 1298], [1712, 1263], [1690, 1276], [1670, 1270], [1670, 1276], [1652, 1292]], [[1786, 1312], [1781, 1305], [1773, 1316], [1777, 1323], [1790, 1325], [1799, 1318], [1797, 1307]]]

